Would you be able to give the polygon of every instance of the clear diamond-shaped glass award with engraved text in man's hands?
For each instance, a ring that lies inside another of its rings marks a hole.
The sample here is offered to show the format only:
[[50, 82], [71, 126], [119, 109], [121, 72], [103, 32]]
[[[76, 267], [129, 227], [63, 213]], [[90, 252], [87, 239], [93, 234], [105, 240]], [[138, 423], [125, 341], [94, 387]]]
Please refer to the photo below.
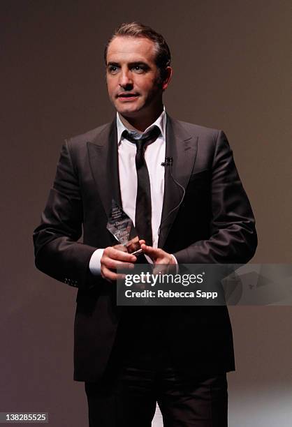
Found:
[[107, 224], [108, 231], [117, 239], [119, 244], [125, 246], [128, 253], [140, 255], [143, 253], [139, 244], [139, 237], [131, 218], [112, 199], [112, 209]]

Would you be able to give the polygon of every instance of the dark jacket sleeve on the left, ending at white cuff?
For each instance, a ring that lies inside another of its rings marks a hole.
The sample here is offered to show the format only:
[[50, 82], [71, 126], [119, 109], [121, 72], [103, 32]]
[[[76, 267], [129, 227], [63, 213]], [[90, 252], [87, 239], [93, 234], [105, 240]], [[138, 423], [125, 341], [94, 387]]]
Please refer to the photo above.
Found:
[[66, 141], [41, 224], [34, 231], [36, 267], [75, 287], [88, 286], [89, 260], [96, 248], [78, 241], [82, 236], [82, 198], [78, 171]]

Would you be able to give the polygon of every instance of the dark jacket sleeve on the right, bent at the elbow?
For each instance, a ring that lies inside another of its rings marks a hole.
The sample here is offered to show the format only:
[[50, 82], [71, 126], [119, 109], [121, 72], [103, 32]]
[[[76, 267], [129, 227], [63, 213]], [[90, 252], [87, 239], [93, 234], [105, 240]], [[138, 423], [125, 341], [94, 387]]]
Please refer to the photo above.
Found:
[[179, 263], [244, 264], [256, 250], [254, 215], [224, 132], [219, 131], [215, 141], [210, 237], [173, 253]]

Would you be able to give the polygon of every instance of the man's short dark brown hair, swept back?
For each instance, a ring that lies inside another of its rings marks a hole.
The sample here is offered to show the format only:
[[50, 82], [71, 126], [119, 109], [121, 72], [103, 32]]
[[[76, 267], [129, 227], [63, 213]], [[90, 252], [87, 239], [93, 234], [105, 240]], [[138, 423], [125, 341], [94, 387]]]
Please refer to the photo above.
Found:
[[156, 66], [160, 70], [161, 78], [165, 75], [166, 67], [170, 66], [171, 54], [168, 44], [161, 34], [157, 33], [151, 27], [141, 24], [140, 22], [128, 22], [119, 25], [117, 29], [112, 33], [112, 36], [105, 45], [104, 60], [106, 64], [106, 57], [108, 55], [108, 46], [110, 42], [118, 36], [124, 37], [145, 37], [152, 40], [156, 48]]

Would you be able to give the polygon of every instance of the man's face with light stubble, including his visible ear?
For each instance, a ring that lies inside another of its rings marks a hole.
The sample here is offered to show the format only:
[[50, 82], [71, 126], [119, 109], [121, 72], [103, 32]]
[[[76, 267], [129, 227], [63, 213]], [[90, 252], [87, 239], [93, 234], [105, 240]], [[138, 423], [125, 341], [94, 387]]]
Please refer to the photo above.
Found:
[[108, 46], [108, 94], [122, 116], [138, 119], [161, 107], [169, 79], [161, 82], [155, 57], [154, 43], [144, 37], [117, 36]]

